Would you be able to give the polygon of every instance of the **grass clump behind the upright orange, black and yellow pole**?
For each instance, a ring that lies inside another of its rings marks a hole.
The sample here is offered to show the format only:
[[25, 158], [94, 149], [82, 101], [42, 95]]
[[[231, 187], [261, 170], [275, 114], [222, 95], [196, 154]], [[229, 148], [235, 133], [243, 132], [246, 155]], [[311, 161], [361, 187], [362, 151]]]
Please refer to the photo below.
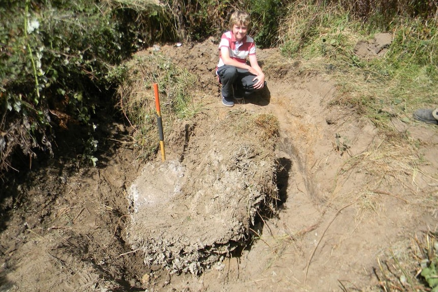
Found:
[[119, 70], [126, 76], [118, 88], [120, 107], [134, 131], [132, 139], [140, 158], [147, 159], [159, 145], [153, 83], [159, 88], [166, 136], [176, 119], [193, 117], [198, 111], [191, 95], [196, 78], [158, 52], [138, 54]]

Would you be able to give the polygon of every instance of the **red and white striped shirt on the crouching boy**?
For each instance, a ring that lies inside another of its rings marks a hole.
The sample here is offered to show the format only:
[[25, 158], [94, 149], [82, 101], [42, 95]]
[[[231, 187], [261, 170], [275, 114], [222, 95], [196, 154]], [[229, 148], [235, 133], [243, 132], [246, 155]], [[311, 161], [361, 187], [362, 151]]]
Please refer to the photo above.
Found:
[[238, 42], [234, 38], [232, 31], [227, 31], [222, 35], [221, 42], [219, 43], [219, 63], [217, 67], [225, 65], [221, 56], [222, 47], [228, 47], [230, 57], [241, 63], [245, 63], [249, 55], [256, 54], [256, 44], [253, 38], [245, 36], [241, 42]]

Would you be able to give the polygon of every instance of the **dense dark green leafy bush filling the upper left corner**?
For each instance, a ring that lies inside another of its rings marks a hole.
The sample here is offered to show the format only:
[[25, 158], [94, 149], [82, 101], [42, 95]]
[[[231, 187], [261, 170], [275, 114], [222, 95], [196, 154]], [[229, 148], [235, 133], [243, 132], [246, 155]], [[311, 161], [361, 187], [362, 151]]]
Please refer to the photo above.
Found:
[[29, 160], [38, 149], [51, 153], [57, 128], [71, 121], [92, 133], [100, 96], [111, 96], [116, 86], [109, 72], [138, 48], [139, 31], [130, 29], [132, 20], [123, 22], [120, 11], [125, 9], [84, 0], [3, 1], [0, 171], [13, 168], [18, 149]]

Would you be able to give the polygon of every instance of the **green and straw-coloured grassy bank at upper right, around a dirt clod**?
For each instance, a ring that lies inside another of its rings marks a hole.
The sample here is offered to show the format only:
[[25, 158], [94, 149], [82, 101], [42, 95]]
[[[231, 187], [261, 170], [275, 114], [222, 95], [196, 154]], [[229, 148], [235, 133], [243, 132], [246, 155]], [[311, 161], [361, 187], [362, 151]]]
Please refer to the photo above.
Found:
[[[400, 6], [389, 15], [378, 3], [368, 5], [359, 18], [359, 8], [342, 2], [291, 3], [280, 27], [281, 50], [302, 59], [302, 70], [331, 75], [339, 89], [336, 103], [391, 131], [392, 119], [410, 123], [415, 109], [438, 105], [438, 10]], [[392, 36], [384, 53], [356, 54], [359, 42], [372, 43], [379, 33]]]

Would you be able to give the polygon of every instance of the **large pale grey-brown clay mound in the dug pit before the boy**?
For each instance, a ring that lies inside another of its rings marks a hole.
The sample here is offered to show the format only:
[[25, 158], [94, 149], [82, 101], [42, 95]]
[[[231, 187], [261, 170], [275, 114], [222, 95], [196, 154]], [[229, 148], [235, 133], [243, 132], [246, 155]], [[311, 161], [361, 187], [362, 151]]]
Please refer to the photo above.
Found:
[[277, 199], [276, 123], [229, 111], [184, 135], [178, 159], [143, 168], [129, 189], [128, 238], [145, 264], [199, 274], [245, 245], [256, 214]]

